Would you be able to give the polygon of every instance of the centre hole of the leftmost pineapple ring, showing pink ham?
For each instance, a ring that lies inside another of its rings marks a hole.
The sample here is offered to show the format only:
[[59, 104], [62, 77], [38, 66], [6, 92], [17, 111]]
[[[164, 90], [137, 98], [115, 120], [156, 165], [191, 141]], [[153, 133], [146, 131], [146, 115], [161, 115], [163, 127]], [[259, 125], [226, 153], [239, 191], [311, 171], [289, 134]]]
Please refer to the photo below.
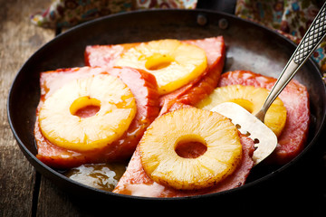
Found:
[[72, 102], [70, 112], [72, 115], [80, 118], [89, 118], [94, 116], [100, 109], [100, 100], [90, 97], [81, 97]]

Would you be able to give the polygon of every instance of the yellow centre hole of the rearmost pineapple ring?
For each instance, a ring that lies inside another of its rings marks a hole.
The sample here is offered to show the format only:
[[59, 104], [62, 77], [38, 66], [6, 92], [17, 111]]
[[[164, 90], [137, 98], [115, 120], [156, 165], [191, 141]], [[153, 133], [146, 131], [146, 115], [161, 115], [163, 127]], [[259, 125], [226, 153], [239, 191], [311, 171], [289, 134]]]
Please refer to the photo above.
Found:
[[167, 54], [154, 53], [149, 58], [147, 58], [145, 67], [149, 71], [157, 71], [167, 68], [172, 63], [172, 61], [174, 61], [174, 59]]

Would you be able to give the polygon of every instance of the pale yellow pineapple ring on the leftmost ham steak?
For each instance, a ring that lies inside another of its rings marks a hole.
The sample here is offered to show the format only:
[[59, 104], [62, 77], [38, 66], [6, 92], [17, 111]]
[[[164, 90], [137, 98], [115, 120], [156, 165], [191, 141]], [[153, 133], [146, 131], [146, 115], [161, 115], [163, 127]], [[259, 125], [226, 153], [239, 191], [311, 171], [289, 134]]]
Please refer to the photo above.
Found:
[[[75, 113], [100, 107], [91, 117]], [[91, 151], [118, 139], [136, 114], [128, 86], [109, 74], [72, 80], [45, 99], [39, 112], [41, 132], [51, 143], [74, 151]]]

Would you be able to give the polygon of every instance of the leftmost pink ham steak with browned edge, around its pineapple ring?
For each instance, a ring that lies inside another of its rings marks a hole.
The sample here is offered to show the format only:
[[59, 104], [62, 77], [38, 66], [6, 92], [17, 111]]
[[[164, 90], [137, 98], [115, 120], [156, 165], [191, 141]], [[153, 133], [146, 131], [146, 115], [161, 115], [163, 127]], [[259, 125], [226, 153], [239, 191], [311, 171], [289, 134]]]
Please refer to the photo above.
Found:
[[[109, 73], [128, 85], [137, 103], [137, 113], [128, 130], [120, 139], [100, 150], [77, 152], [53, 145], [43, 137], [36, 119], [34, 135], [37, 145], [37, 158], [55, 168], [72, 168], [83, 164], [105, 163], [128, 159], [135, 151], [140, 138], [149, 124], [158, 117], [158, 90], [153, 75], [146, 71], [131, 68], [82, 67], [45, 71], [41, 73], [41, 100], [36, 117], [43, 101], [64, 83], [100, 73]], [[87, 113], [87, 112], [86, 112]]]

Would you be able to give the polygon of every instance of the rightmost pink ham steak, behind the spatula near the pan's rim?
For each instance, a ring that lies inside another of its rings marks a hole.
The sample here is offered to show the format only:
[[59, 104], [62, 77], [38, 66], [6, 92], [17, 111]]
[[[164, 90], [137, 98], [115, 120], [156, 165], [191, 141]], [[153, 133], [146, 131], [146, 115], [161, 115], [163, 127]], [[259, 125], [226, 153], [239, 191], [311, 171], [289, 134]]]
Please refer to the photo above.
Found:
[[[229, 71], [224, 73], [219, 87], [227, 85], [251, 85], [272, 90], [276, 79], [256, 74], [252, 71]], [[283, 132], [278, 137], [278, 145], [266, 160], [269, 163], [284, 165], [303, 149], [308, 137], [310, 123], [309, 95], [306, 87], [292, 80], [279, 96], [287, 111]]]

